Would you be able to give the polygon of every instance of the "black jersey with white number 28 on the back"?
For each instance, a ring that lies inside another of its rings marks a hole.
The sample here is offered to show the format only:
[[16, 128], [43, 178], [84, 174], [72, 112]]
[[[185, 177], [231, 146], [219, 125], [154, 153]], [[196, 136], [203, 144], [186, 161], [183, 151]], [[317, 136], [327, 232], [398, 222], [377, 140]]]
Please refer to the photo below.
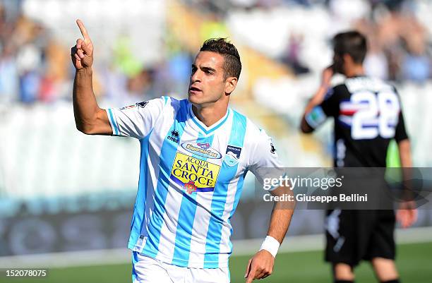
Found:
[[335, 167], [385, 167], [390, 140], [407, 139], [400, 97], [383, 80], [357, 76], [330, 88], [306, 121], [335, 118]]

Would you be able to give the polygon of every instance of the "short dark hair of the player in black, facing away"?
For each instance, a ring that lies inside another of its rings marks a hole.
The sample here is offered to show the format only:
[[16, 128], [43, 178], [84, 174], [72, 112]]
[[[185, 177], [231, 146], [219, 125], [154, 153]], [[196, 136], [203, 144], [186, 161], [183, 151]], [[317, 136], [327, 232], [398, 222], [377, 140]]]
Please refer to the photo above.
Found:
[[361, 64], [366, 57], [366, 37], [356, 30], [341, 32], [333, 37], [333, 48], [335, 54], [343, 56], [349, 54], [355, 63]]

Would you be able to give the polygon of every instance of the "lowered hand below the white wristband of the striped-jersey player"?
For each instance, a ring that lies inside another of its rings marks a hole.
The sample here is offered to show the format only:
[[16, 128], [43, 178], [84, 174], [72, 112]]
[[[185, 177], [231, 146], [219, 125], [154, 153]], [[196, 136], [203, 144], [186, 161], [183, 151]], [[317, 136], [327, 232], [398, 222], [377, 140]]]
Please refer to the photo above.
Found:
[[273, 272], [273, 265], [275, 265], [275, 258], [273, 255], [265, 250], [258, 251], [249, 260], [246, 267], [246, 274], [244, 275], [246, 283], [251, 283], [253, 279], [263, 279], [271, 275]]

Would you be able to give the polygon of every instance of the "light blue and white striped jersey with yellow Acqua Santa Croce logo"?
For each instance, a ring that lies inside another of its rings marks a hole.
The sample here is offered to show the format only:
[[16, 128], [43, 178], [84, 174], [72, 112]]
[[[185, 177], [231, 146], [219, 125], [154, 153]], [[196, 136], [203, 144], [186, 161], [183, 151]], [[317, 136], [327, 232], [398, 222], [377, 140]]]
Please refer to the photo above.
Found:
[[128, 248], [181, 267], [227, 267], [246, 172], [262, 181], [260, 168], [281, 167], [267, 134], [232, 109], [207, 127], [171, 97], [107, 114], [114, 136], [141, 145]]

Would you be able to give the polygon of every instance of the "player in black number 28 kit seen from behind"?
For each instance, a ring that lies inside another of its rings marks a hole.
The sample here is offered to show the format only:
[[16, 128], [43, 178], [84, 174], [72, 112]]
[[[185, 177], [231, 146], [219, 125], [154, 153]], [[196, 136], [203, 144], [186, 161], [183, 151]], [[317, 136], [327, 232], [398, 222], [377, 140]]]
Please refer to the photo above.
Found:
[[[306, 106], [301, 131], [311, 133], [325, 119], [335, 119], [335, 167], [386, 167], [391, 139], [397, 141], [402, 167], [412, 167], [400, 98], [392, 85], [365, 76], [362, 63], [366, 38], [356, 31], [333, 39], [333, 65], [323, 71], [322, 83]], [[333, 73], [346, 76], [330, 87]], [[416, 219], [416, 210], [403, 203], [397, 211], [402, 227]], [[353, 268], [370, 260], [380, 282], [399, 282], [395, 267], [393, 210], [331, 210], [326, 219], [325, 259], [332, 263], [335, 282], [354, 282]], [[334, 225], [336, 224], [336, 225]]]

